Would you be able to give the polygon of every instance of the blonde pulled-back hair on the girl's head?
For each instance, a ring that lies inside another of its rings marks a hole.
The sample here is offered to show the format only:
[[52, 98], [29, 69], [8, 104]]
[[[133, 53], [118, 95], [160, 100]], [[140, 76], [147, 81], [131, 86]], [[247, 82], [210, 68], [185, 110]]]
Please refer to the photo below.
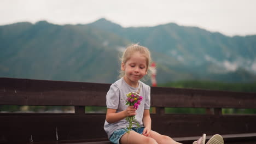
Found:
[[[130, 46], [127, 46], [125, 51], [123, 52], [123, 56], [120, 58], [120, 63], [126, 63], [131, 56], [133, 55], [133, 53], [135, 52], [139, 52], [141, 53], [144, 57], [146, 57], [146, 63], [147, 63], [147, 70], [148, 70], [148, 74], [150, 73], [150, 68], [149, 65], [152, 62], [151, 59], [151, 54], [150, 51], [148, 50], [147, 47], [138, 45], [138, 44], [132, 44]], [[123, 77], [124, 76], [124, 71], [120, 70], [120, 75], [119, 77]]]

